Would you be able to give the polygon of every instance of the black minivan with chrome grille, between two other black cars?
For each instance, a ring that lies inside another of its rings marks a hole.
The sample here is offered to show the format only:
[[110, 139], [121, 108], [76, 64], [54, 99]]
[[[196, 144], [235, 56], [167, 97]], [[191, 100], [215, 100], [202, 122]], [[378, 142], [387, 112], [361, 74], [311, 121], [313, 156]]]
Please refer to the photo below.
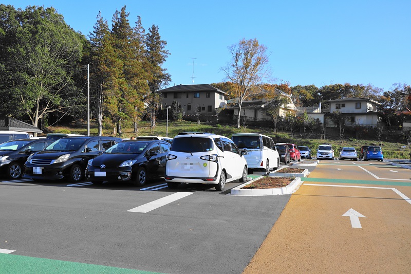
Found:
[[27, 158], [23, 177], [33, 180], [67, 177], [72, 182], [78, 182], [84, 178], [88, 160], [116, 143], [116, 138], [109, 136], [61, 138]]

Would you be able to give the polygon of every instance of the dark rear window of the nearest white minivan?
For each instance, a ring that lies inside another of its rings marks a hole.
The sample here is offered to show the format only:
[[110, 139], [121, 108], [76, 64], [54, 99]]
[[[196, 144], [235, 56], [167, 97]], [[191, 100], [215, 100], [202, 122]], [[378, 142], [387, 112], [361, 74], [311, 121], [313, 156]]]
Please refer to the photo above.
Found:
[[174, 138], [170, 150], [176, 152], [206, 152], [212, 151], [213, 148], [213, 141], [210, 138], [183, 137]]

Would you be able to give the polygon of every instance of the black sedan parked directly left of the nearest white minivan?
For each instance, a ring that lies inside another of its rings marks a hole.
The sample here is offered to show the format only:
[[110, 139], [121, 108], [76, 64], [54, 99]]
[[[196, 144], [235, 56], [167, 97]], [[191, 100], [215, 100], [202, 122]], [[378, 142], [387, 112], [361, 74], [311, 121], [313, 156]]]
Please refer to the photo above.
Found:
[[127, 181], [143, 186], [147, 179], [165, 175], [170, 143], [161, 140], [125, 140], [88, 161], [86, 178], [93, 184]]

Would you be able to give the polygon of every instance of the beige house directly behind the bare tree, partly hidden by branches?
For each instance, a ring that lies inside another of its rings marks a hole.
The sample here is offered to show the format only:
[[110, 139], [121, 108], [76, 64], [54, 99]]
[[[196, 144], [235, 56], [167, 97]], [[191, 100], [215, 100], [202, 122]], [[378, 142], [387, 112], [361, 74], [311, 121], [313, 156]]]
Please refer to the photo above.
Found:
[[[298, 109], [295, 107], [291, 95], [275, 89], [276, 94], [287, 97], [288, 103], [283, 104], [278, 108], [277, 116], [286, 117], [287, 114], [296, 115]], [[249, 121], [269, 121], [271, 116], [267, 115], [264, 107], [271, 101], [270, 98], [249, 97], [241, 104], [241, 117]], [[234, 118], [238, 116], [239, 104], [234, 104], [231, 108], [234, 110]]]

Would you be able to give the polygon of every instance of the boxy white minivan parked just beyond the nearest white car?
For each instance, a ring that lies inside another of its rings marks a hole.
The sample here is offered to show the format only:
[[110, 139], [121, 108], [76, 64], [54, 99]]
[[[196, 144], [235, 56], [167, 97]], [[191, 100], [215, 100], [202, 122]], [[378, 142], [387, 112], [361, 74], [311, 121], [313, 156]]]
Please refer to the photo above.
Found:
[[234, 133], [231, 139], [244, 155], [249, 171], [258, 170], [269, 173], [279, 168], [279, 155], [271, 137], [259, 133]]

